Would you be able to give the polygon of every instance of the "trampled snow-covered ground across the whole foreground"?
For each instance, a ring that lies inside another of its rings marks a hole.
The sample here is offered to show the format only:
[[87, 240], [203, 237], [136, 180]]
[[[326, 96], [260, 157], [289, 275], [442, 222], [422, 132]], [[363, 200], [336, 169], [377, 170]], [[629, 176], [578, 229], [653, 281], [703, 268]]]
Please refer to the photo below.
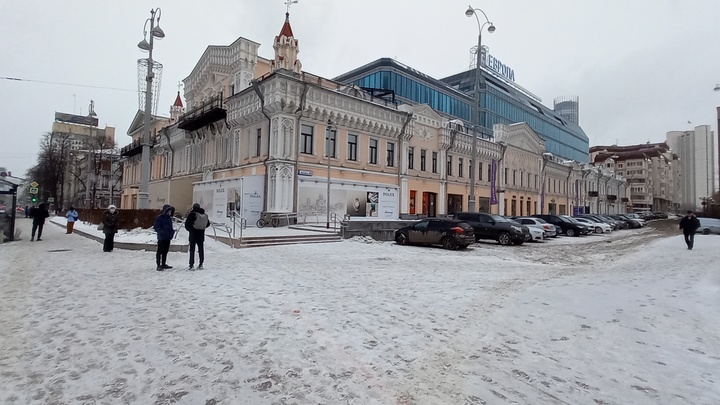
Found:
[[0, 245], [0, 403], [717, 404], [718, 249], [209, 240], [156, 272], [48, 224]]

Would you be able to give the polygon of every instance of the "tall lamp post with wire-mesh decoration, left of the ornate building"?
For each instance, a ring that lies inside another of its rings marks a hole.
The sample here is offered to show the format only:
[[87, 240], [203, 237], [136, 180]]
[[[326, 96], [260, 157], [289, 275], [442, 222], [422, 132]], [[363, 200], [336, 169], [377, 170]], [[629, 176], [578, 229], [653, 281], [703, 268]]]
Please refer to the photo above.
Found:
[[[140, 209], [150, 208], [150, 202], [148, 199], [148, 183], [150, 182], [150, 124], [152, 122], [152, 81], [155, 76], [153, 73], [154, 62], [152, 60], [153, 50], [153, 39], [165, 38], [165, 33], [160, 29], [160, 8], [150, 10], [150, 18], [145, 20], [145, 26], [143, 27], [143, 40], [138, 43], [138, 48], [148, 52], [147, 57], [147, 81], [145, 88], [145, 124], [142, 139], [142, 161], [141, 161], [141, 172], [140, 172], [140, 192], [138, 193], [138, 200]], [[148, 30], [147, 26], [150, 23], [150, 41], [148, 42]]]

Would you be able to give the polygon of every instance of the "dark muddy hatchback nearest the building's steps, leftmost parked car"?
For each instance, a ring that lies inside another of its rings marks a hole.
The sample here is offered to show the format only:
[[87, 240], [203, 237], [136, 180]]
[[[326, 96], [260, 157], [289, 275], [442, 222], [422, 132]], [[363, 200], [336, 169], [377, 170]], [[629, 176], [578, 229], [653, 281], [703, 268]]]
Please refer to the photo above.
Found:
[[442, 245], [445, 249], [464, 249], [475, 242], [473, 228], [460, 221], [426, 218], [395, 231], [398, 245]]

